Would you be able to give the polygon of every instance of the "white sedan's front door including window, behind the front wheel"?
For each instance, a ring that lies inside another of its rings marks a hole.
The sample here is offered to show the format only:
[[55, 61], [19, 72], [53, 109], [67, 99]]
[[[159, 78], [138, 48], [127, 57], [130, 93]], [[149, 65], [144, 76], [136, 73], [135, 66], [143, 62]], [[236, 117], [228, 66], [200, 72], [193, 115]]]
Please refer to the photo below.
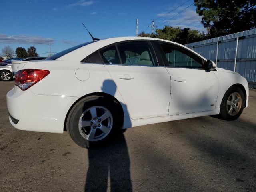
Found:
[[159, 45], [171, 76], [169, 114], [214, 110], [218, 96], [214, 71], [206, 71], [202, 58], [182, 46], [165, 42]]

